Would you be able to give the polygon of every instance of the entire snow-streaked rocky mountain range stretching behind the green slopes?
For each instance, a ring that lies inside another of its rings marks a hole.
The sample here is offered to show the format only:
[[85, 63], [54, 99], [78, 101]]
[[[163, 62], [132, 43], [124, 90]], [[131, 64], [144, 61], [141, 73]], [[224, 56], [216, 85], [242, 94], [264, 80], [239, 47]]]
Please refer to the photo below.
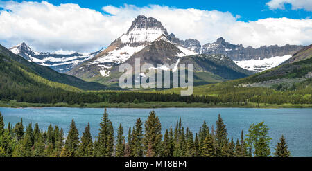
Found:
[[288, 44], [244, 48], [241, 44], [225, 42], [223, 37], [202, 46], [196, 39], [181, 40], [173, 33], [168, 34], [162, 23], [153, 17], [139, 15], [128, 31], [105, 50], [94, 53], [39, 53], [22, 43], [10, 48], [10, 51], [28, 62], [101, 84], [116, 84], [121, 75], [118, 72], [120, 64], [133, 64], [137, 57], [141, 59], [141, 64], [154, 66], [192, 63], [196, 66], [196, 82], [208, 84], [272, 69], [290, 59], [301, 48], [303, 46]]

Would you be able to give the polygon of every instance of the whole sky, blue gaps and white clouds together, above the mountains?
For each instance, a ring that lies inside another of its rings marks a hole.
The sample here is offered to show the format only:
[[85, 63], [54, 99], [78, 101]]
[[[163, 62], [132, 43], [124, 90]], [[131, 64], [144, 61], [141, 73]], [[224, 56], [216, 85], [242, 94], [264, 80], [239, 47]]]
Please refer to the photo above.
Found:
[[312, 0], [34, 1], [0, 0], [0, 44], [96, 51], [125, 33], [137, 15], [155, 17], [168, 33], [201, 44], [218, 37], [253, 47], [312, 43]]

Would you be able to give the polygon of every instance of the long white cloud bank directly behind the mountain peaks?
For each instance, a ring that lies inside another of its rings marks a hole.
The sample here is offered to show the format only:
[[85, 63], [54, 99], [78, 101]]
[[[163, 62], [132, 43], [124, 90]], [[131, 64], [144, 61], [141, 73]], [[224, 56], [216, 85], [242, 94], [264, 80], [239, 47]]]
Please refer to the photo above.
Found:
[[104, 6], [102, 12], [66, 3], [46, 1], [0, 3], [0, 43], [12, 46], [25, 41], [37, 51], [95, 51], [108, 46], [130, 27], [137, 15], [155, 17], [168, 33], [201, 44], [224, 37], [227, 42], [259, 47], [278, 44], [311, 44], [312, 19], [259, 19], [237, 21], [240, 15], [217, 10], [179, 9], [151, 5]]

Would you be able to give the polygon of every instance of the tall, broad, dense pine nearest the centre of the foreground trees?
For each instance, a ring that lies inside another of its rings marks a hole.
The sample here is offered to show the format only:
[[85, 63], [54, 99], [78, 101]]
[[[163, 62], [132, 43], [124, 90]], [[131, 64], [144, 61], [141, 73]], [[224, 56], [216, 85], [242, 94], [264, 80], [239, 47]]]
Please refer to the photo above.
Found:
[[149, 144], [155, 156], [162, 154], [162, 125], [155, 111], [151, 111], [145, 123], [144, 149], [148, 150]]

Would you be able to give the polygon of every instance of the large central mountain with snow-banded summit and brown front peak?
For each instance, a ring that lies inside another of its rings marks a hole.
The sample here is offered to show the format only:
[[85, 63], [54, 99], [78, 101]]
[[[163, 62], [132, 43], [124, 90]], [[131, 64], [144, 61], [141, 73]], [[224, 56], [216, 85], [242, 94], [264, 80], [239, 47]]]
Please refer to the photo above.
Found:
[[[253, 74], [241, 69], [225, 55], [199, 55], [198, 51], [200, 44], [197, 40], [180, 40], [173, 34], [168, 35], [164, 26], [153, 17], [139, 16], [132, 22], [127, 33], [112, 42], [105, 51], [75, 66], [68, 73], [87, 81], [116, 84], [122, 74], [119, 73], [119, 66], [127, 63], [133, 68], [135, 58], [139, 58], [141, 64], [153, 64], [155, 67], [157, 64], [178, 66], [180, 62], [196, 64], [195, 82], [198, 84], [232, 80]], [[200, 57], [202, 60], [198, 60]], [[175, 71], [176, 69], [172, 69], [172, 72]]]

